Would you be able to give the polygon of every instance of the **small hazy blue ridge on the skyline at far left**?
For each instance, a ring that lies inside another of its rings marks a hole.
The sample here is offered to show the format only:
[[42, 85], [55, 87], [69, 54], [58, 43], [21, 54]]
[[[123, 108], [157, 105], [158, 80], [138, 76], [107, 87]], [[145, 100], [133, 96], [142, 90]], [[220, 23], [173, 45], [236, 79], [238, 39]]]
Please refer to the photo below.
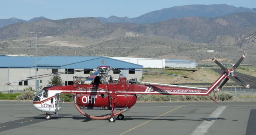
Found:
[[4, 27], [4, 26], [7, 26], [7, 25], [10, 25], [10, 24], [13, 24], [13, 23], [17, 23], [17, 22], [28, 22], [28, 23], [31, 23], [31, 22], [34, 22], [34, 21], [42, 20], [42, 19], [47, 19], [47, 18], [41, 16], [41, 17], [30, 19], [28, 21], [22, 20], [22, 19], [18, 19], [18, 18], [0, 19], [0, 28]]

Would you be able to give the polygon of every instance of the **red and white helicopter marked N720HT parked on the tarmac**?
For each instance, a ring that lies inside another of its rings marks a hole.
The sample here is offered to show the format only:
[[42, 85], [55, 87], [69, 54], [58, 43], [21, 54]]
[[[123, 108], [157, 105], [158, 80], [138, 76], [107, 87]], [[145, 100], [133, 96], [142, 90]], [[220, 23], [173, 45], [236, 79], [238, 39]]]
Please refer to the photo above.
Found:
[[[229, 80], [229, 76], [234, 76], [246, 88], [250, 88], [249, 84], [234, 74], [236, 68], [245, 58], [245, 55], [242, 55], [231, 69], [226, 68], [216, 58], [213, 58], [212, 60], [222, 68], [223, 73], [208, 88], [150, 82], [139, 82], [140, 84], [129, 83], [137, 81], [127, 80], [126, 77], [123, 76], [120, 76], [118, 79], [113, 79], [108, 75], [109, 70], [120, 69], [101, 66], [84, 82], [81, 81], [82, 79], [78, 78], [75, 79], [74, 85], [44, 87], [42, 91], [34, 97], [33, 105], [37, 110], [46, 112], [46, 119], [51, 119], [51, 114], [58, 115], [58, 112], [62, 109], [59, 106], [61, 101], [60, 94], [71, 93], [73, 94], [74, 106], [82, 115], [91, 119], [108, 119], [110, 122], [114, 122], [116, 121], [116, 116], [119, 120], [124, 119], [122, 113], [134, 106], [137, 100], [136, 94], [209, 96], [211, 92], [218, 92]], [[34, 79], [34, 77], [36, 76], [30, 77], [30, 79]], [[216, 96], [214, 98], [209, 97], [217, 102]], [[106, 116], [93, 116], [83, 112], [82, 109], [111, 110], [112, 113]], [[115, 110], [119, 111], [114, 113]]]

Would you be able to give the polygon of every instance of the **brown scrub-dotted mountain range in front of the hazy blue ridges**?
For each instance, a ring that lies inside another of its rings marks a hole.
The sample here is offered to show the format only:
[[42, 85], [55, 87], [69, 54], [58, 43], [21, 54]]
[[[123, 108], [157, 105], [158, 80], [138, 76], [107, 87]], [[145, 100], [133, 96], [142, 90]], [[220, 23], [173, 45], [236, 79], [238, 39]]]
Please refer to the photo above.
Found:
[[31, 31], [41, 31], [44, 36], [75, 35], [90, 38], [124, 37], [132, 32], [141, 35], [164, 36], [192, 42], [209, 43], [218, 35], [228, 35], [238, 44], [241, 37], [256, 31], [256, 14], [235, 13], [222, 17], [174, 18], [158, 23], [103, 23], [96, 18], [69, 18], [62, 20], [38, 20], [19, 22], [0, 28], [0, 39], [30, 36]]

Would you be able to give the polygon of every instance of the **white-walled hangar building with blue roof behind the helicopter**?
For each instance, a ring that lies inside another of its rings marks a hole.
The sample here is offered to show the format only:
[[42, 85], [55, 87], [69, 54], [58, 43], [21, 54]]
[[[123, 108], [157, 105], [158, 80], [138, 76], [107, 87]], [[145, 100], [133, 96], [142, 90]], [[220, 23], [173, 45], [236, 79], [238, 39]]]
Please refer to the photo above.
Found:
[[[23, 90], [29, 86], [33, 88], [43, 88], [48, 85], [50, 77], [38, 78], [35, 80], [24, 80], [28, 76], [35, 75], [35, 57], [0, 57], [0, 90]], [[37, 57], [37, 75], [49, 74], [54, 72], [65, 72], [66, 70], [80, 70], [80, 69], [92, 69], [98, 66], [110, 66], [115, 68], [128, 68], [142, 70], [142, 65], [128, 63], [126, 61], [120, 61], [108, 57], [95, 56], [95, 57], [78, 57], [78, 56], [48, 56], [48, 57]], [[121, 70], [121, 73], [128, 79], [137, 78], [140, 80], [142, 72], [132, 70]], [[61, 74], [61, 78], [65, 84], [73, 83], [73, 76], [88, 77], [89, 72], [71, 72], [68, 74]], [[113, 78], [118, 78], [119, 73], [110, 70], [110, 75]], [[7, 82], [16, 82], [11, 86], [6, 85]], [[37, 84], [37, 85], [36, 85]]]

